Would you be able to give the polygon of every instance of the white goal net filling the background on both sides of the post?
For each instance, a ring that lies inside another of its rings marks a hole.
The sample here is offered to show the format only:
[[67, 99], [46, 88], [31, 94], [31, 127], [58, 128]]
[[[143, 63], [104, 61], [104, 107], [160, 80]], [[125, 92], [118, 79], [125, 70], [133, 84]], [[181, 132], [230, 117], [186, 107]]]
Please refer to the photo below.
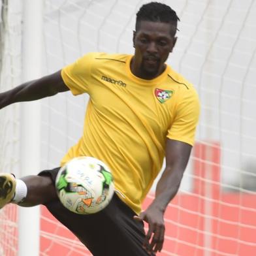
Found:
[[[0, 3], [0, 93], [22, 80], [23, 2]], [[135, 14], [147, 2], [45, 0], [42, 74], [87, 52], [133, 54]], [[201, 114], [182, 185], [165, 214], [165, 244], [158, 255], [254, 256], [256, 2], [161, 2], [174, 8], [181, 20], [168, 64], [195, 85]], [[40, 101], [41, 170], [57, 167], [76, 143], [87, 102], [87, 95], [73, 97], [69, 92]], [[0, 110], [1, 171], [19, 173], [20, 151], [27, 150], [20, 138], [21, 112], [20, 104]], [[154, 189], [155, 184], [144, 208]], [[0, 210], [0, 255], [19, 253], [18, 210], [12, 205]], [[91, 255], [44, 207], [39, 235], [40, 255]]]

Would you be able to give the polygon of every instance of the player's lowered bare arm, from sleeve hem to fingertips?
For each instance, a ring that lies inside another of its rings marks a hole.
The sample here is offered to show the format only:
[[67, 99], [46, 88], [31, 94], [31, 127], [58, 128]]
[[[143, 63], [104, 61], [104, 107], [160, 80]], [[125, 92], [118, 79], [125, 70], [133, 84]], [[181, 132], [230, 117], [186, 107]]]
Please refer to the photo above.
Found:
[[174, 198], [180, 187], [191, 146], [178, 140], [167, 139], [166, 168], [157, 183], [155, 199], [148, 209], [135, 219], [148, 222], [144, 247], [152, 251], [161, 251], [165, 237], [164, 214], [170, 200]]

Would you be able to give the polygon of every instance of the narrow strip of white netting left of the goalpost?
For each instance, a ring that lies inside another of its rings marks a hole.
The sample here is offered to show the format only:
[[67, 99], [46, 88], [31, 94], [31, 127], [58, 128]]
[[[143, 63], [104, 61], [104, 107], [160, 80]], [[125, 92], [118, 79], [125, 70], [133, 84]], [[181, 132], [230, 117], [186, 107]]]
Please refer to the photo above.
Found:
[[[0, 3], [0, 92], [20, 84], [22, 5], [20, 1]], [[18, 169], [19, 107], [14, 104], [0, 111], [0, 170], [11, 172]], [[14, 256], [18, 246], [16, 206], [0, 210], [0, 255]]]

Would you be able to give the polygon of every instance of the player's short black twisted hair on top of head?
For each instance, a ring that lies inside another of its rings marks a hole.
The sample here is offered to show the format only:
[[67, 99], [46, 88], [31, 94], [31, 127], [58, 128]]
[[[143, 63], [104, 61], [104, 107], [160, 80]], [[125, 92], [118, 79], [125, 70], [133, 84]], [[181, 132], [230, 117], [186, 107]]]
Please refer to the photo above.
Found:
[[136, 13], [136, 30], [139, 29], [141, 21], [170, 23], [176, 27], [176, 29], [171, 31], [172, 36], [174, 36], [176, 34], [176, 30], [178, 30], [177, 24], [180, 19], [176, 12], [168, 5], [151, 2], [142, 5], [140, 10]]

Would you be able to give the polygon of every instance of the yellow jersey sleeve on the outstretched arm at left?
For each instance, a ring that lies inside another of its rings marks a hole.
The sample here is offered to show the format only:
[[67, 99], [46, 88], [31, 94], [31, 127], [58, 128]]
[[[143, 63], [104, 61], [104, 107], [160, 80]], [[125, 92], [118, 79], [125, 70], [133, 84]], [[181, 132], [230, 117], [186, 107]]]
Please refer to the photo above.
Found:
[[94, 55], [86, 54], [61, 70], [61, 77], [73, 95], [88, 93]]

